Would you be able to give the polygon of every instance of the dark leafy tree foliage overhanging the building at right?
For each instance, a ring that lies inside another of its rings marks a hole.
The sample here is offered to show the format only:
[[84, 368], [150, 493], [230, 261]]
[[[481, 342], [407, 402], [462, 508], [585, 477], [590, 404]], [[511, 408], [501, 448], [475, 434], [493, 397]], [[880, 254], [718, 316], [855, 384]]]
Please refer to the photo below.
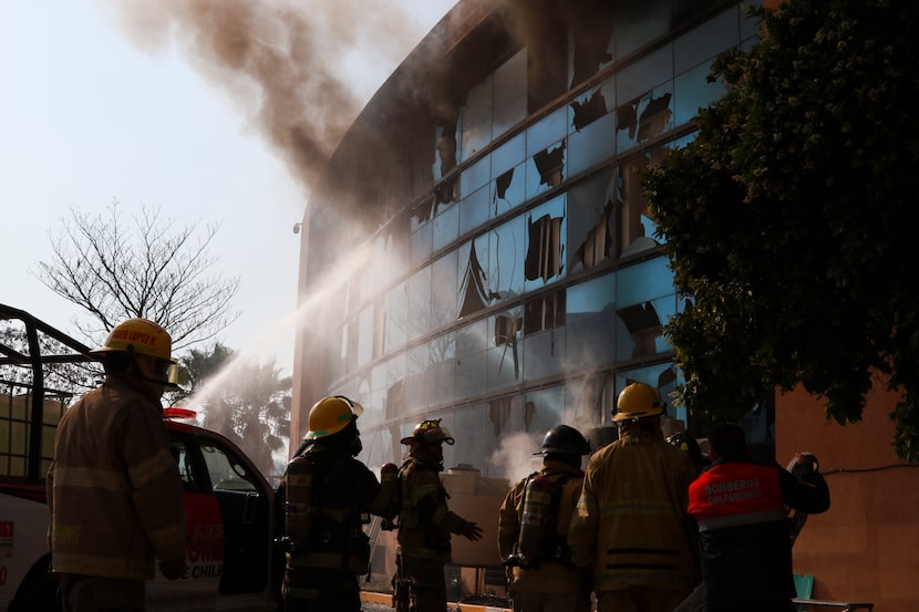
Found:
[[646, 175], [684, 312], [667, 325], [698, 415], [802, 384], [840, 424], [872, 373], [919, 460], [919, 2], [792, 0], [722, 54], [723, 97]]

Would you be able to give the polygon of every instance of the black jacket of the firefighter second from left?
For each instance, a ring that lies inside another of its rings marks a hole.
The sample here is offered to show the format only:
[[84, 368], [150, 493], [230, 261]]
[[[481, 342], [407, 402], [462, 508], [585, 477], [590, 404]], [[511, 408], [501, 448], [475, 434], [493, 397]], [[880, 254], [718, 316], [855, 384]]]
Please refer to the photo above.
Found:
[[[373, 471], [352, 457], [349, 448], [317, 442], [306, 458], [312, 465], [310, 527], [304, 541], [291, 542], [288, 570], [324, 568], [366, 573], [370, 539], [363, 531], [363, 517], [384, 514], [389, 496], [383, 495]], [[286, 481], [285, 490], [290, 491], [292, 486]]]

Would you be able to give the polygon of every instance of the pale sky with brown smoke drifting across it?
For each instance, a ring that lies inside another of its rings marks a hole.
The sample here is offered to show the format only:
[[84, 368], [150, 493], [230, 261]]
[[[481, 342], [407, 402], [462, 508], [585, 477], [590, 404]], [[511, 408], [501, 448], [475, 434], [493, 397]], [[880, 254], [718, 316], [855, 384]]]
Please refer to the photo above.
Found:
[[309, 183], [453, 3], [0, 0], [0, 303], [81, 339], [81, 309], [37, 276], [71, 208], [219, 222], [210, 276], [239, 277], [241, 317], [217, 340], [291, 374], [277, 323]]

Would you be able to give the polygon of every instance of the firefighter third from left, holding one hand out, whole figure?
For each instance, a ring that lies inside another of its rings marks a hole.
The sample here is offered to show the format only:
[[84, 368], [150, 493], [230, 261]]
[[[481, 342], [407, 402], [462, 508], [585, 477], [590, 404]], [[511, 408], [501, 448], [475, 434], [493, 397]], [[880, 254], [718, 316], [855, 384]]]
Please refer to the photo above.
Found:
[[402, 510], [393, 577], [396, 612], [444, 612], [450, 535], [473, 541], [482, 538], [481, 527], [447, 508], [448, 496], [438, 476], [444, 469], [444, 443], [452, 445], [454, 439], [441, 427], [441, 419], [422, 421], [412, 435], [402, 438], [409, 456], [400, 469]]

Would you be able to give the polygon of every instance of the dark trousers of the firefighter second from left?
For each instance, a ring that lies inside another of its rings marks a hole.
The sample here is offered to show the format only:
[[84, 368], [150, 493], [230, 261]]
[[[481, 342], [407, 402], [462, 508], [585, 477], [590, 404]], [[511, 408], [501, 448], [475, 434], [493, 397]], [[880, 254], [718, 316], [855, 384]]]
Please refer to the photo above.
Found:
[[285, 612], [360, 612], [361, 588], [353, 572], [324, 568], [288, 569]]

